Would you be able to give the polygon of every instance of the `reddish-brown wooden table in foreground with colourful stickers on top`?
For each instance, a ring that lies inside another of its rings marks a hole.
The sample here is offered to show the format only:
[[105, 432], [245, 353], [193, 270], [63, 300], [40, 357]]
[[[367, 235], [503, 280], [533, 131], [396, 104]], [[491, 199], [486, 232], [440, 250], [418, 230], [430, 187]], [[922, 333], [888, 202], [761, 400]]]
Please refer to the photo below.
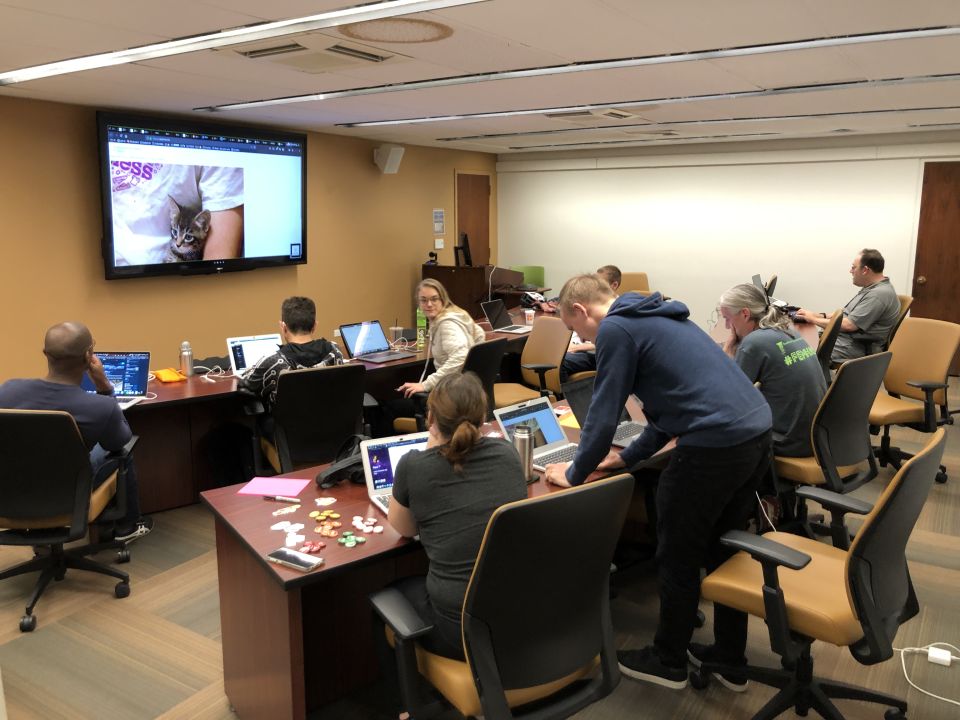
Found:
[[[571, 440], [579, 438], [577, 430], [566, 432]], [[658, 466], [672, 447], [643, 465]], [[243, 485], [201, 494], [216, 524], [224, 690], [242, 720], [300, 720], [372, 683], [378, 668], [367, 595], [427, 569], [420, 544], [390, 527], [365, 485], [344, 482], [321, 490], [313, 478], [323, 467], [282, 476], [311, 482], [300, 492], [300, 507], [281, 516], [272, 513], [287, 504], [237, 494]], [[561, 490], [543, 480], [529, 485], [531, 497]], [[335, 502], [318, 507], [314, 501], [322, 497]], [[354, 516], [376, 518], [383, 532], [346, 548], [313, 532], [313, 510], [340, 513], [341, 532], [354, 530]], [[285, 533], [270, 529], [281, 520], [303, 523], [307, 541], [326, 543], [318, 570], [301, 573], [267, 561], [267, 553], [284, 544]]]

